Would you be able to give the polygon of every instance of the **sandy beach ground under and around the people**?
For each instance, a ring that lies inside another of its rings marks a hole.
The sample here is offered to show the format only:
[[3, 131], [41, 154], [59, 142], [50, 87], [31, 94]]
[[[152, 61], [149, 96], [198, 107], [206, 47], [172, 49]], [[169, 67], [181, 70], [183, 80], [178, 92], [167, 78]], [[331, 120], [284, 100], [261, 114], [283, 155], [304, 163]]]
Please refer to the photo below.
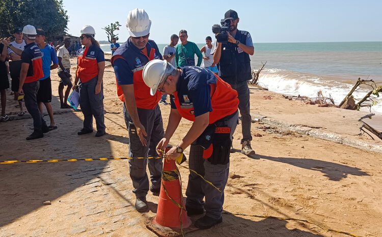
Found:
[[[71, 62], [73, 74], [75, 59]], [[51, 79], [58, 129], [26, 141], [32, 119], [15, 115], [16, 101], [8, 93], [7, 113], [15, 120], [0, 123], [0, 161], [126, 157], [129, 138], [113, 68], [106, 67], [104, 73], [107, 135], [101, 138], [94, 133], [77, 136], [83, 114], [59, 109], [56, 70]], [[253, 115], [382, 145], [360, 135], [358, 119], [368, 112], [319, 108], [255, 87], [250, 91]], [[170, 106], [160, 109], [166, 126]], [[48, 122], [48, 116], [44, 118]], [[190, 125], [183, 119], [171, 144], [180, 141]], [[186, 236], [382, 236], [382, 153], [264, 122], [252, 123], [251, 133], [257, 153], [251, 157], [239, 151], [241, 124], [234, 134], [237, 152], [231, 154], [223, 223]], [[188, 170], [180, 171], [184, 194]], [[147, 195], [150, 212], [135, 211], [127, 161], [0, 165], [0, 182], [1, 237], [156, 236], [144, 221], [155, 216], [158, 197]]]

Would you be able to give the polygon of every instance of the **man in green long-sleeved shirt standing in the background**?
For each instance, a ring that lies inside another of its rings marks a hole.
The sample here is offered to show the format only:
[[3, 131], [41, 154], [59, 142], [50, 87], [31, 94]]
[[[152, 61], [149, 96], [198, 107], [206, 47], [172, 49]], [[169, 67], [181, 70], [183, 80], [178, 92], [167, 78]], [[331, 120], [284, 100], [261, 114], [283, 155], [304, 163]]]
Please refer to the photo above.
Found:
[[179, 39], [181, 44], [176, 46], [175, 51], [175, 66], [195, 66], [195, 54], [198, 56], [197, 66], [202, 64], [203, 55], [200, 52], [196, 43], [187, 41], [188, 35], [186, 30], [180, 30]]

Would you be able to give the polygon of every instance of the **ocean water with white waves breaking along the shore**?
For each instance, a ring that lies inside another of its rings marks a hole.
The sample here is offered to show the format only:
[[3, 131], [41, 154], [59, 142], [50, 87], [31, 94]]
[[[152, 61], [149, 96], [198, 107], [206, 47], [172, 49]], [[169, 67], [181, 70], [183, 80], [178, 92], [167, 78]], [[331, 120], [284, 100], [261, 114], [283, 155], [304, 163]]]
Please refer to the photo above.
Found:
[[[158, 44], [162, 51], [166, 44]], [[197, 44], [201, 48], [204, 44]], [[382, 86], [382, 42], [255, 43], [252, 69], [266, 63], [259, 85], [287, 95], [316, 97], [322, 91], [336, 104], [342, 101], [359, 77]], [[110, 52], [109, 45], [101, 45]], [[371, 88], [353, 93], [362, 98]], [[371, 111], [382, 114], [382, 95]], [[363, 110], [369, 110], [363, 108]]]

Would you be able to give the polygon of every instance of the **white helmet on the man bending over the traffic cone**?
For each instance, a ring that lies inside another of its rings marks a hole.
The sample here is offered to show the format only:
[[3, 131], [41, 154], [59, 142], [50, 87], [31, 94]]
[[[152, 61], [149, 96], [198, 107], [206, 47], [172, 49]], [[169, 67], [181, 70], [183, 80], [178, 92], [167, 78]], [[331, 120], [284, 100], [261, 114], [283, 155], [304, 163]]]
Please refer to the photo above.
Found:
[[143, 68], [143, 81], [151, 88], [150, 94], [155, 95], [159, 84], [165, 79], [164, 75], [175, 70], [173, 65], [166, 60], [154, 59], [148, 62]]

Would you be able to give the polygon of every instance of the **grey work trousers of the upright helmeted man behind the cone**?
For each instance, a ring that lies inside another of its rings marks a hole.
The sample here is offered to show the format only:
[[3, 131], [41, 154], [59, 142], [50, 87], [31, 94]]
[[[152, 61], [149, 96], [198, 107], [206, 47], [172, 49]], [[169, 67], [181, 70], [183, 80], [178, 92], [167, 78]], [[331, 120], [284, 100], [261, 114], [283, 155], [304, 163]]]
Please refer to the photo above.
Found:
[[[129, 156], [157, 156], [156, 145], [165, 136], [163, 131], [162, 115], [157, 105], [153, 110], [139, 109], [138, 116], [147, 133], [147, 146], [143, 146], [137, 135], [137, 130], [130, 118], [129, 113], [123, 104], [123, 117], [129, 131]], [[149, 166], [150, 179], [154, 189], [160, 188], [160, 176], [162, 174], [162, 159], [142, 159], [129, 160], [130, 178], [132, 186], [137, 197], [146, 197], [149, 191], [149, 179], [146, 172], [146, 166]]]

